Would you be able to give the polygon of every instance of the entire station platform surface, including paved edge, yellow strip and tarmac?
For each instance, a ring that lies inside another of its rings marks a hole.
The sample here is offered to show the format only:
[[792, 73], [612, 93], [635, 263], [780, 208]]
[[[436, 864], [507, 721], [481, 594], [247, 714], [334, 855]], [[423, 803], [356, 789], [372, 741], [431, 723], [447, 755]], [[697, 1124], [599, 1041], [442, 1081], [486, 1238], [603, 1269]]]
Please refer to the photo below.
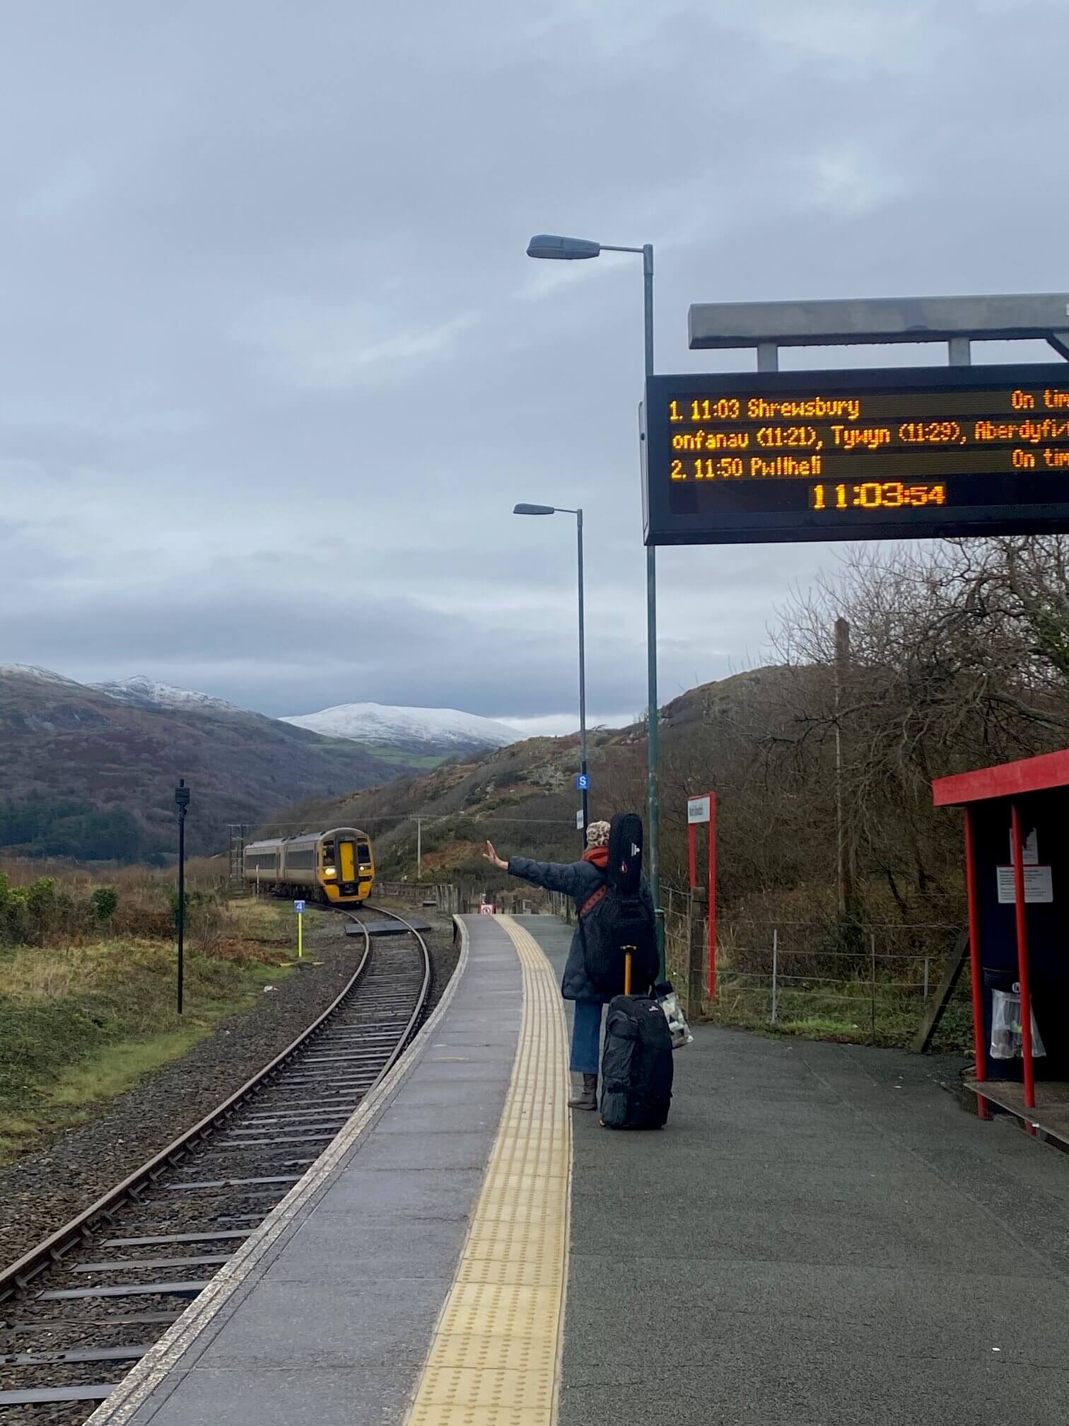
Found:
[[567, 937], [466, 918], [412, 1051], [94, 1426], [1069, 1419], [1063, 1155], [931, 1060], [703, 1025], [667, 1129], [603, 1131]]

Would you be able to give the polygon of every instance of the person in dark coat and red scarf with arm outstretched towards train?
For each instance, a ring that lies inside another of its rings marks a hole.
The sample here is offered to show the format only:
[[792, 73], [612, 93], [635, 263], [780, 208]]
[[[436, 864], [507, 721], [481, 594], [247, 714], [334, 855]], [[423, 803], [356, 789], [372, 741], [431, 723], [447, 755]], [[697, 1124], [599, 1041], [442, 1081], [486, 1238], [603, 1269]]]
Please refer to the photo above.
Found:
[[[560, 981], [560, 994], [574, 1001], [572, 1020], [572, 1058], [569, 1068], [583, 1075], [583, 1089], [569, 1099], [570, 1109], [597, 1108], [597, 1068], [601, 1045], [601, 1008], [606, 995], [592, 984], [586, 971], [587, 941], [599, 935], [599, 906], [603, 904], [609, 867], [609, 823], [592, 821], [586, 830], [587, 850], [580, 861], [532, 861], [529, 857], [510, 857], [503, 861], [493, 843], [486, 843], [483, 857], [492, 866], [520, 877], [547, 891], [560, 891], [576, 903], [576, 931], [567, 953], [567, 964]], [[653, 898], [646, 881], [641, 897], [653, 915]]]

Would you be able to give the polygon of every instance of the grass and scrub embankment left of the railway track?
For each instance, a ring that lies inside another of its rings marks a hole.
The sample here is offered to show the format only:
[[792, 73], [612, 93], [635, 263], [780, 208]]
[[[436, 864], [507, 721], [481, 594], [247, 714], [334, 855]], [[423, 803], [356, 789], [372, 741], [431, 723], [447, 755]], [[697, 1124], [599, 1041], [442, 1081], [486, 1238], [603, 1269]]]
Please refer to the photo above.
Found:
[[[147, 878], [137, 896], [125, 888], [125, 908], [120, 896], [97, 928], [81, 924], [81, 897], [63, 887], [60, 880], [51, 918], [77, 930], [50, 930], [46, 915], [41, 944], [0, 945], [0, 1162], [185, 1054], [292, 964], [288, 908], [201, 890], [190, 910], [180, 1017], [167, 887]], [[154, 901], [167, 934], [138, 934], [137, 923], [151, 925]], [[124, 910], [133, 930], [120, 928]]]

